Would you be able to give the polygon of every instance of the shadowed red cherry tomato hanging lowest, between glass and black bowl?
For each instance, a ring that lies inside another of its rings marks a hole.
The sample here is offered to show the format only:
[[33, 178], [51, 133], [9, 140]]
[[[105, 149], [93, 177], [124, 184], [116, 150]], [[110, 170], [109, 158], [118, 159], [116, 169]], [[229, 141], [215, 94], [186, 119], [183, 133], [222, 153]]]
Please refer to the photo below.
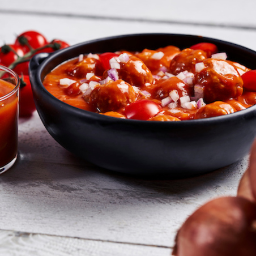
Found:
[[19, 98], [19, 116], [30, 117], [36, 110], [36, 106], [33, 100], [33, 93], [31, 89], [31, 83], [28, 75], [23, 75], [22, 80], [24, 84], [20, 87], [20, 98]]

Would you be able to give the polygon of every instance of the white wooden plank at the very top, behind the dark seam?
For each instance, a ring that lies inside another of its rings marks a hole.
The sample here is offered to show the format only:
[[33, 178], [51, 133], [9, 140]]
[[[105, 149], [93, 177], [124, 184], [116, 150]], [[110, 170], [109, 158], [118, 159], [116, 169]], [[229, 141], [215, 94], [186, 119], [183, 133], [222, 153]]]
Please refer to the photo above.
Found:
[[[256, 27], [254, 10], [256, 2], [253, 0], [241, 1], [216, 0], [206, 3], [203, 0], [194, 1], [118, 1], [118, 0], [74, 0], [65, 2], [61, 0], [46, 0], [23, 2], [19, 0], [2, 1], [2, 12], [15, 11], [15, 14], [36, 13], [37, 15], [72, 15], [85, 18], [125, 19], [140, 21], [155, 21], [159, 23], [181, 24], [208, 24], [219, 26]], [[241, 11], [246, 10], [246, 11]]]

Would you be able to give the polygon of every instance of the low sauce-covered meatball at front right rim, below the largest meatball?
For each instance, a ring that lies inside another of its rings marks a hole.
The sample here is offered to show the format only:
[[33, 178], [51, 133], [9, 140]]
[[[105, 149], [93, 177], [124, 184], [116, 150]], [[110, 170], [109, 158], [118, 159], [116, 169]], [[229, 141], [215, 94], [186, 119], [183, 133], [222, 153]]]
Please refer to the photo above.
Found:
[[202, 106], [197, 113], [195, 114], [195, 119], [208, 118], [208, 117], [217, 117], [223, 116], [224, 114], [231, 114], [236, 112], [236, 109], [233, 108], [228, 103], [223, 101], [215, 101], [214, 103], [207, 104]]

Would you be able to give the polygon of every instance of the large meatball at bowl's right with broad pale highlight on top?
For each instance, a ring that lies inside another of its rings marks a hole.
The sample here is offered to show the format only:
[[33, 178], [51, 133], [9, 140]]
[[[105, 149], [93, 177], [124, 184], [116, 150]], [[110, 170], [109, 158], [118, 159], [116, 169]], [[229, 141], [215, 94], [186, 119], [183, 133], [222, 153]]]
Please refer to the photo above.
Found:
[[203, 87], [206, 103], [242, 95], [243, 82], [236, 67], [219, 59], [206, 59], [203, 63], [205, 68], [195, 75], [194, 84]]

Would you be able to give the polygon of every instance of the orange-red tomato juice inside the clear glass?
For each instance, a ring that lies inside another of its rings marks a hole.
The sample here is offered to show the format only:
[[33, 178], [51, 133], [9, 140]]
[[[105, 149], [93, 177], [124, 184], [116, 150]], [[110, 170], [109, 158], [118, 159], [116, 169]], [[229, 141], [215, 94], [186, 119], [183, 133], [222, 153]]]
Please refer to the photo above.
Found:
[[0, 79], [0, 170], [15, 159], [18, 151], [18, 96], [3, 97], [14, 88], [14, 84]]

